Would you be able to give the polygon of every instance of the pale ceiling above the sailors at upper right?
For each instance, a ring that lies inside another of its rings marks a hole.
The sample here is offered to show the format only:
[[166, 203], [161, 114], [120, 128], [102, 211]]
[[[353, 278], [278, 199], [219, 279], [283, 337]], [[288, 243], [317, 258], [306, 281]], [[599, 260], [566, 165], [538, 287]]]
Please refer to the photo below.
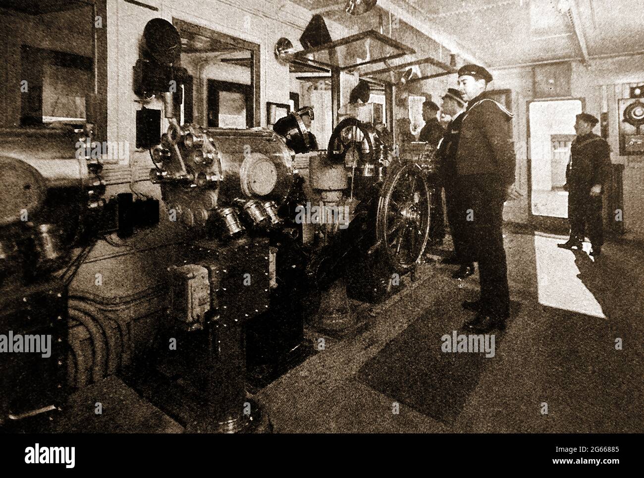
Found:
[[[576, 2], [589, 55], [617, 55], [644, 50], [643, 0], [392, 0], [410, 14], [424, 16], [428, 24], [449, 32], [489, 66], [524, 64], [556, 59], [581, 58], [582, 49], [565, 3]], [[361, 17], [344, 12], [337, 0], [296, 0], [310, 10], [354, 31], [379, 28], [384, 13], [376, 8]], [[333, 7], [336, 5], [336, 7]], [[413, 30], [413, 29], [412, 29]], [[392, 31], [392, 37], [417, 50], [422, 42], [404, 39], [408, 29]], [[427, 38], [427, 37], [426, 37]], [[417, 46], [419, 45], [419, 46]]]

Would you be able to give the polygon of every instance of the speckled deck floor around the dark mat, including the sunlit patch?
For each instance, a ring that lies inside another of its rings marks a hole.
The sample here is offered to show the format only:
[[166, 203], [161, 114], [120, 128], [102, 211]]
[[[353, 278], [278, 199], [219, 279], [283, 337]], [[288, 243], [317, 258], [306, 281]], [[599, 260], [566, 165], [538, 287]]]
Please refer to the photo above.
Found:
[[[365, 363], [415, 321], [438, 338], [469, 317], [460, 303], [477, 297], [478, 274], [459, 283], [453, 266], [428, 264], [415, 287], [374, 309], [366, 330], [326, 337], [325, 350], [256, 395], [275, 432], [644, 432], [644, 251], [608, 242], [593, 262], [589, 244], [573, 253], [556, 247], [563, 240], [506, 234], [511, 296], [520, 307], [453, 420], [359, 379]], [[395, 373], [395, 364], [388, 367]]]

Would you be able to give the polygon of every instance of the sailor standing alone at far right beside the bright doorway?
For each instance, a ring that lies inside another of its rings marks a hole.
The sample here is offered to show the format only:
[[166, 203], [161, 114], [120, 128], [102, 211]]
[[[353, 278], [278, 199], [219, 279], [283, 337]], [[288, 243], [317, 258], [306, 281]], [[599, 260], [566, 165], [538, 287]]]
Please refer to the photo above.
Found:
[[571, 146], [570, 161], [566, 168], [568, 189], [568, 220], [570, 238], [565, 249], [582, 249], [587, 235], [591, 240], [591, 256], [601, 254], [603, 224], [601, 220], [601, 194], [611, 175], [611, 147], [592, 132], [599, 122], [588, 113], [577, 115], [574, 129], [577, 137]]

